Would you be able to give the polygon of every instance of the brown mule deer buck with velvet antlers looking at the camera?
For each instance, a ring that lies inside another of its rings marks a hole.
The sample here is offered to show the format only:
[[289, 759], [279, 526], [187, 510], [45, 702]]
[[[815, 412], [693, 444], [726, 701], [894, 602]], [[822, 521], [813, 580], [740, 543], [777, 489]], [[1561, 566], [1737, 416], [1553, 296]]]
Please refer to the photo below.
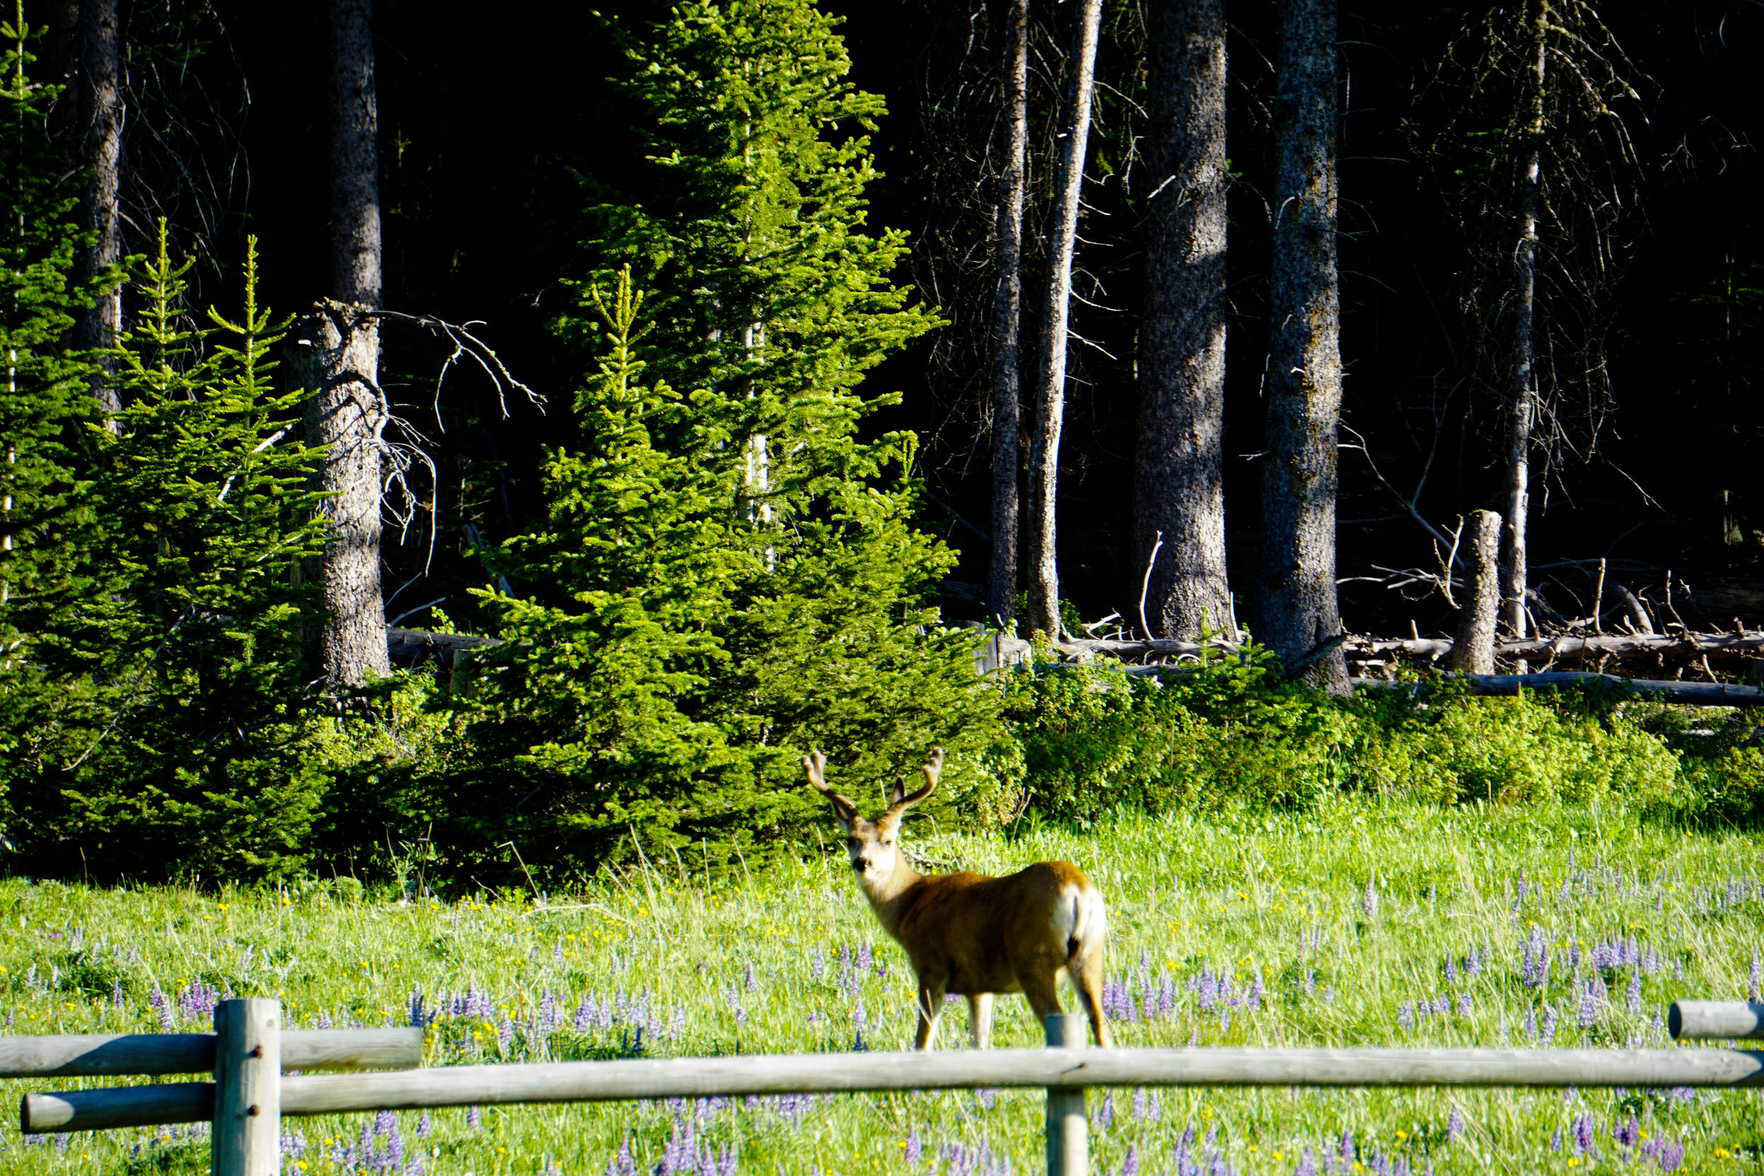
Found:
[[914, 1049], [935, 1046], [946, 994], [968, 998], [975, 1049], [991, 1044], [993, 993], [1021, 993], [1037, 1021], [1060, 1012], [1062, 971], [1090, 1016], [1097, 1046], [1113, 1044], [1101, 1000], [1108, 915], [1102, 894], [1083, 871], [1069, 862], [1035, 862], [1004, 878], [924, 876], [900, 855], [900, 820], [937, 790], [944, 749], [933, 748], [924, 762], [924, 786], [908, 795], [901, 778], [873, 822], [827, 788], [826, 765], [818, 751], [803, 756], [808, 783], [833, 800], [870, 908], [889, 938], [907, 949], [919, 979]]

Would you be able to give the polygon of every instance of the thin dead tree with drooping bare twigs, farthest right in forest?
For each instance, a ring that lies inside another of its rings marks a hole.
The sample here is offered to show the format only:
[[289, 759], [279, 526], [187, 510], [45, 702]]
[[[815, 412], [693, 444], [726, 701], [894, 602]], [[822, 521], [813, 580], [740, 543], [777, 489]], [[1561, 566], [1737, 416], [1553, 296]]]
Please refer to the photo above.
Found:
[[1586, 0], [1496, 0], [1420, 93], [1439, 116], [1415, 120], [1434, 129], [1416, 150], [1471, 259], [1464, 368], [1498, 406], [1501, 598], [1519, 638], [1535, 601], [1533, 494], [1547, 495], [1568, 458], [1596, 453], [1616, 407], [1605, 337], [1646, 189], [1644, 92], [1656, 86]]

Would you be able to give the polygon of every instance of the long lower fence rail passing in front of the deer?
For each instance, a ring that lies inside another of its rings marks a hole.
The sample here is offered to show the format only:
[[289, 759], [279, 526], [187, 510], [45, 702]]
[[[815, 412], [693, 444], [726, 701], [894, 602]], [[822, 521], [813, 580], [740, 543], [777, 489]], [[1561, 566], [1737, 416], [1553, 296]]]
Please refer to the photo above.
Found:
[[[282, 1114], [974, 1086], [1764, 1086], [1729, 1049], [981, 1049], [467, 1065], [282, 1079]], [[157, 1100], [152, 1093], [162, 1091]], [[25, 1132], [194, 1123], [213, 1086], [26, 1095]]]

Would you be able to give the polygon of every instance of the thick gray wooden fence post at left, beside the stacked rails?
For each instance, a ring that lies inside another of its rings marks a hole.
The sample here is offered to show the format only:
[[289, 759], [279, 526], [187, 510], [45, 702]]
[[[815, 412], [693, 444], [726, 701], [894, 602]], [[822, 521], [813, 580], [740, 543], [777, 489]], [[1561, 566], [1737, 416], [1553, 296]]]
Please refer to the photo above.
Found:
[[215, 1005], [213, 1176], [277, 1176], [282, 1146], [282, 1005]]

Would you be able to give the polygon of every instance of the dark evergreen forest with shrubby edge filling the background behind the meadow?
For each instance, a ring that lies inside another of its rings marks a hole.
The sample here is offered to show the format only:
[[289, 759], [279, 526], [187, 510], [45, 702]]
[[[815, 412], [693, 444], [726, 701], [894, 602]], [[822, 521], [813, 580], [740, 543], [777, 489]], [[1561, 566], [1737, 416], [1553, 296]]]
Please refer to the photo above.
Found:
[[1764, 816], [1755, 0], [0, 16], [4, 873]]

